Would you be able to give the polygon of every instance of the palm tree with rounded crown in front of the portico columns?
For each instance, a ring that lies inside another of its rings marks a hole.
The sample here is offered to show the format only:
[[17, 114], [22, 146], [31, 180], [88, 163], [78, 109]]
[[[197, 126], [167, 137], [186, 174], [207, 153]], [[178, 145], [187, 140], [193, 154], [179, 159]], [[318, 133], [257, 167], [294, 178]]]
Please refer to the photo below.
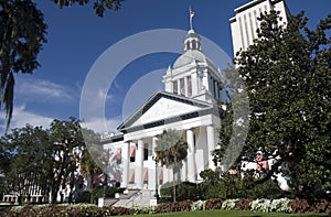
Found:
[[174, 129], [164, 130], [157, 141], [156, 154], [157, 161], [162, 166], [172, 167], [173, 202], [175, 202], [175, 172], [180, 170], [182, 160], [188, 155], [188, 143], [183, 141], [179, 131]]

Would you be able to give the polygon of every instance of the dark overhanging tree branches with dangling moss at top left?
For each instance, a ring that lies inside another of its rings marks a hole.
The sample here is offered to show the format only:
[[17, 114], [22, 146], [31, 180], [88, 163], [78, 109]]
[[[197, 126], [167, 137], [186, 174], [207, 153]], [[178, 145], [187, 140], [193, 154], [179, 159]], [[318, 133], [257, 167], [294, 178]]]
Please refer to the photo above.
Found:
[[[60, 8], [89, 0], [52, 0]], [[122, 0], [95, 0], [93, 8], [103, 17], [105, 10], [118, 10]], [[38, 54], [46, 43], [43, 13], [31, 0], [0, 0], [0, 108], [7, 113], [9, 127], [14, 97], [14, 74], [32, 74], [40, 63]]]

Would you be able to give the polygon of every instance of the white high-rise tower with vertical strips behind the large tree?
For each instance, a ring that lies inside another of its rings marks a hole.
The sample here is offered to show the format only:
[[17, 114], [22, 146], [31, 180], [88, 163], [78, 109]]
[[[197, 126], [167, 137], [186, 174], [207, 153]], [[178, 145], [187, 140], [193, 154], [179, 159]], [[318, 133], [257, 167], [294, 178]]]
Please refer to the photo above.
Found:
[[260, 13], [271, 10], [280, 11], [281, 22], [288, 22], [290, 12], [285, 0], [254, 0], [234, 10], [235, 17], [229, 19], [234, 55], [253, 44], [259, 28], [257, 19]]

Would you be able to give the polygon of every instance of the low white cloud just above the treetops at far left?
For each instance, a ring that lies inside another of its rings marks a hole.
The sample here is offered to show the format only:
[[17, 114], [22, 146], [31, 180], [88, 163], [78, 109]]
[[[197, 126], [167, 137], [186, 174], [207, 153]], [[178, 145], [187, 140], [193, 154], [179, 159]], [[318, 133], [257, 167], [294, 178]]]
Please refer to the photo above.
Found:
[[[0, 132], [4, 133], [6, 130], [6, 118], [4, 112], [1, 112], [0, 117]], [[50, 123], [53, 121], [53, 118], [40, 116], [36, 113], [32, 113], [25, 110], [25, 106], [14, 107], [12, 119], [10, 122], [10, 129], [13, 128], [23, 128], [26, 123], [31, 126], [42, 126], [44, 129], [50, 127]]]

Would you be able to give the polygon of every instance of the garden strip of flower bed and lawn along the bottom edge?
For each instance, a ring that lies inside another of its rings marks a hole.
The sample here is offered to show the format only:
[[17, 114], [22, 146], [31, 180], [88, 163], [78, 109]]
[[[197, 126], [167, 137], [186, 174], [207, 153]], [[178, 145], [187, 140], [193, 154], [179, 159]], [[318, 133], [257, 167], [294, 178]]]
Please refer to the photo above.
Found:
[[103, 207], [94, 204], [58, 204], [14, 206], [0, 216], [329, 216], [331, 203], [320, 200], [309, 203], [306, 199], [209, 199], [163, 203], [156, 207]]

